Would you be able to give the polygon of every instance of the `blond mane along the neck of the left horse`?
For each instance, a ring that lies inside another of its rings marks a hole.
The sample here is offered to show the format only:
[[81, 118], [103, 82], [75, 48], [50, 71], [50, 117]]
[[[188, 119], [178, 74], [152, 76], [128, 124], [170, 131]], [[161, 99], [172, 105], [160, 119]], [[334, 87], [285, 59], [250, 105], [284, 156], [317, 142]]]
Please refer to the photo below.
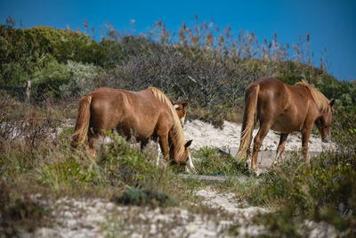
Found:
[[184, 137], [183, 137], [183, 129], [181, 126], [181, 121], [178, 118], [178, 115], [171, 103], [171, 101], [166, 97], [166, 94], [164, 94], [162, 91], [160, 91], [156, 87], [149, 87], [148, 88], [150, 92], [162, 103], [165, 103], [168, 108], [170, 109], [172, 116], [173, 116], [173, 134], [175, 136], [175, 141], [176, 141], [176, 152], [175, 154], [177, 156], [181, 156], [182, 153], [184, 152]]

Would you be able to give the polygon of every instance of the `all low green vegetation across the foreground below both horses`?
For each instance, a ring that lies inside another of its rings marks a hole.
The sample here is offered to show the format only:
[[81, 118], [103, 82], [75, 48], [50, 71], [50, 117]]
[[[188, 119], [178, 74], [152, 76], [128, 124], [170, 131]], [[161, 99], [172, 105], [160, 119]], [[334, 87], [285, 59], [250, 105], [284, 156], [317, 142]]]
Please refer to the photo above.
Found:
[[[114, 143], [102, 146], [96, 160], [84, 151], [71, 151], [66, 138], [58, 139], [60, 145], [35, 151], [30, 145], [5, 144], [7, 153], [1, 157], [1, 176], [3, 186], [10, 192], [2, 193], [0, 199], [9, 204], [2, 214], [20, 214], [11, 220], [11, 226], [15, 227], [12, 231], [19, 232], [17, 226], [29, 229], [32, 216], [36, 219], [39, 216], [37, 220], [49, 219], [42, 205], [16, 199], [21, 193], [50, 193], [52, 198], [94, 196], [119, 204], [150, 207], [179, 203], [181, 207], [196, 210], [186, 201], [198, 202], [192, 191], [211, 184], [180, 180], [174, 168], [155, 165], [155, 154], [133, 148], [118, 135], [110, 136]], [[31, 151], [31, 160], [25, 160]], [[244, 184], [233, 178], [243, 171], [243, 164], [237, 164], [233, 158], [207, 148], [195, 152], [194, 157], [199, 174], [231, 176], [228, 183], [214, 185], [216, 189], [234, 192], [241, 201], [271, 209], [270, 214], [255, 217], [254, 221], [269, 227], [271, 234], [301, 235], [299, 231], [305, 228], [302, 226], [305, 219], [326, 221], [340, 232], [355, 231], [351, 211], [356, 204], [356, 164], [352, 157], [321, 153], [310, 164], [303, 164], [295, 155], [269, 173], [250, 177]], [[214, 213], [203, 207], [198, 212]]]

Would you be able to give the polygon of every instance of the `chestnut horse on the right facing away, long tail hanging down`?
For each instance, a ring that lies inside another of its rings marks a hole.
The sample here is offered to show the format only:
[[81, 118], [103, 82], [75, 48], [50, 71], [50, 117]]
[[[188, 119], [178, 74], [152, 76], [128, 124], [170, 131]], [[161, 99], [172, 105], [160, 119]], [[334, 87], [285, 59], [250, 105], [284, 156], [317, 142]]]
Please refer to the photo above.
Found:
[[[235, 159], [242, 160], [247, 153], [247, 167], [251, 166], [255, 175], [258, 175], [258, 150], [263, 144], [263, 138], [272, 129], [281, 133], [272, 165], [284, 151], [288, 134], [294, 131], [302, 132], [302, 152], [306, 161], [313, 124], [319, 128], [324, 141], [331, 127], [334, 103], [335, 100], [329, 102], [320, 91], [304, 81], [289, 86], [277, 78], [256, 80], [248, 86], [245, 94], [239, 152]], [[250, 144], [257, 121], [260, 121], [260, 129], [255, 135], [251, 158]]]

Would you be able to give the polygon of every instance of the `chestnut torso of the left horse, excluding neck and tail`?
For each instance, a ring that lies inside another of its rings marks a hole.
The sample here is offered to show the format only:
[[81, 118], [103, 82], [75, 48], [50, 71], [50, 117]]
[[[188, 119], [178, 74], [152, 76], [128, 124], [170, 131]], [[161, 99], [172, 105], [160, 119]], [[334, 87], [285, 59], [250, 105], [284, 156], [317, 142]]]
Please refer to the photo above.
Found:
[[169, 119], [166, 106], [149, 90], [139, 92], [101, 87], [93, 91], [91, 126], [97, 130], [117, 128], [125, 135], [151, 136], [159, 119]]

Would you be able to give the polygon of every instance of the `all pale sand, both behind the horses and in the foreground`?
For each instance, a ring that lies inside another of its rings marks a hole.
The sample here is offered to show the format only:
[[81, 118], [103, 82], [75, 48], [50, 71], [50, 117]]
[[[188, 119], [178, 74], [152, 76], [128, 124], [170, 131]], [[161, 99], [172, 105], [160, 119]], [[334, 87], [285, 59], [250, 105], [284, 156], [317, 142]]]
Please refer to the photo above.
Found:
[[[239, 148], [240, 125], [225, 121], [223, 129], [211, 124], [193, 120], [186, 122], [184, 137], [193, 140], [192, 149], [201, 147], [220, 148], [231, 151]], [[255, 130], [254, 135], [257, 133]], [[290, 135], [287, 151], [297, 151], [301, 147], [301, 136]], [[262, 150], [276, 150], [279, 135], [270, 131], [263, 142]], [[322, 144], [320, 137], [312, 135], [310, 151], [333, 150], [334, 144]], [[233, 154], [234, 155], [234, 154]], [[194, 213], [188, 209], [150, 209], [147, 207], [123, 207], [99, 199], [76, 200], [62, 198], [52, 202], [52, 227], [42, 227], [35, 234], [21, 237], [230, 237], [231, 227], [237, 229], [238, 237], [266, 234], [263, 226], [256, 226], [251, 219], [268, 209], [251, 207], [237, 201], [234, 193], [219, 193], [214, 187], [195, 191], [200, 198], [193, 206], [214, 209], [214, 214]], [[41, 198], [35, 198], [41, 200]], [[333, 226], [307, 221], [310, 237], [335, 237]]]

